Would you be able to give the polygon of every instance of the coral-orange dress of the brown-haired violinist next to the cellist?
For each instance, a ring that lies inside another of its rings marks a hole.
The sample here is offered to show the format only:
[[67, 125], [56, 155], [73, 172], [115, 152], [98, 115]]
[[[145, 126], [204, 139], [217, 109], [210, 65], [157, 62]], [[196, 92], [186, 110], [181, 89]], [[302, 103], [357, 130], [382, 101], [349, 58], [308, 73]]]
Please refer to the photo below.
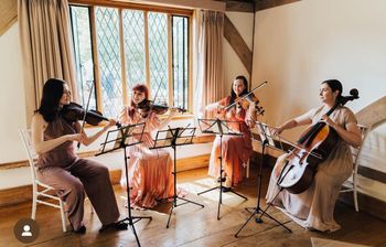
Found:
[[[218, 101], [222, 106], [228, 106], [230, 96], [227, 96]], [[249, 118], [246, 110], [240, 109], [240, 112], [236, 112], [235, 107], [229, 109], [225, 114], [225, 119], [229, 121], [237, 121], [233, 124], [230, 129], [240, 131], [242, 136], [223, 136], [223, 169], [228, 178], [232, 178], [232, 184], [237, 185], [243, 180], [243, 169], [251, 155], [251, 135], [246, 124], [246, 119]], [[240, 128], [240, 129], [239, 129]], [[211, 159], [208, 174], [211, 176], [219, 176], [219, 136], [216, 136]]]

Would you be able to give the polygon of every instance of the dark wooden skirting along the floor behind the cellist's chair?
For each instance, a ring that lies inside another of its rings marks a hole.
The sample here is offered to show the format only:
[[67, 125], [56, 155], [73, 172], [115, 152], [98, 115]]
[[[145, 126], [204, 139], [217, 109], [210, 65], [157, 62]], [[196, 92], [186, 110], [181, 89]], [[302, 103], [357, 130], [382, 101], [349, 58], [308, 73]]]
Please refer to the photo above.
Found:
[[[353, 193], [341, 193], [339, 201], [354, 207]], [[366, 212], [374, 217], [386, 221], [386, 202], [357, 192], [357, 203], [361, 212]]]

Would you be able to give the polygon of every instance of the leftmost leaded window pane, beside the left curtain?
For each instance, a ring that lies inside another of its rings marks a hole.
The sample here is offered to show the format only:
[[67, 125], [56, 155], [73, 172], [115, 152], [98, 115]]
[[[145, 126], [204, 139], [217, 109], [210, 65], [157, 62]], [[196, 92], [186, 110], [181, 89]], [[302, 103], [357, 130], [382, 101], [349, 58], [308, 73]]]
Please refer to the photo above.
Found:
[[[81, 104], [87, 105], [92, 84], [94, 84], [92, 34], [87, 7], [69, 8], [74, 37], [76, 80], [78, 83]], [[96, 109], [95, 88], [92, 92], [89, 108]]]

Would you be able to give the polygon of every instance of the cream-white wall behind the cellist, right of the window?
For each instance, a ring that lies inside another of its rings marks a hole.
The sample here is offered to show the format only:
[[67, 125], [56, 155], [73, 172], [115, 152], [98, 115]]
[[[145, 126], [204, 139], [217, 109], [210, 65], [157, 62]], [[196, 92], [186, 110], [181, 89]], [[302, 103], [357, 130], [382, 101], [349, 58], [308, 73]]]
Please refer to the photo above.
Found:
[[[319, 86], [328, 78], [340, 79], [344, 94], [358, 89], [360, 99], [346, 105], [354, 112], [385, 96], [385, 13], [383, 0], [302, 0], [256, 12], [253, 82], [268, 80], [257, 94], [262, 120], [276, 126], [319, 106]], [[301, 130], [283, 136], [296, 140]], [[384, 160], [385, 151], [376, 155]], [[377, 170], [386, 172], [383, 164]], [[386, 201], [386, 184], [361, 186]], [[382, 196], [374, 193], [379, 186]]]

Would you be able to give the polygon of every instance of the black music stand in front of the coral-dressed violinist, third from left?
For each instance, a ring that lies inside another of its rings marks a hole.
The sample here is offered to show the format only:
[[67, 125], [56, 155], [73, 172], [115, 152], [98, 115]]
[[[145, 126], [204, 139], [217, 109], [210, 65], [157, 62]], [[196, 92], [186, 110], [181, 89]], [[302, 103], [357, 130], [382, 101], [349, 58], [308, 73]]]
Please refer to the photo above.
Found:
[[204, 194], [206, 192], [213, 191], [218, 189], [219, 190], [219, 198], [218, 198], [218, 207], [217, 207], [217, 219], [219, 219], [219, 206], [223, 204], [223, 191], [226, 190], [226, 192], [232, 192], [239, 197], [244, 200], [248, 200], [242, 194], [238, 194], [237, 192], [233, 191], [232, 187], [225, 189], [223, 186], [223, 182], [225, 182], [225, 178], [223, 178], [223, 136], [243, 136], [240, 132], [236, 132], [229, 128], [229, 125], [238, 125], [238, 130], [240, 129], [240, 124], [238, 121], [229, 121], [229, 120], [221, 120], [221, 119], [199, 119], [199, 126], [201, 129], [201, 132], [203, 133], [215, 133], [216, 136], [219, 137], [219, 186], [215, 186], [212, 189], [208, 189], [206, 191], [197, 193], [197, 195]]

